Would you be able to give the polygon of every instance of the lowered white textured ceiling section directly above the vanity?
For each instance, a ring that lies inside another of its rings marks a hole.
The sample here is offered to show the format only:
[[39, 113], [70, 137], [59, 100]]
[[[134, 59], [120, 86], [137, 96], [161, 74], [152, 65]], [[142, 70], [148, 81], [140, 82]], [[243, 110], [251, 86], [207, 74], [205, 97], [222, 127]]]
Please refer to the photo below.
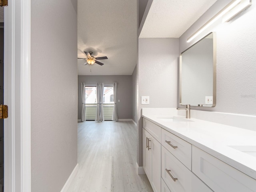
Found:
[[153, 0], [140, 38], [179, 38], [217, 0]]

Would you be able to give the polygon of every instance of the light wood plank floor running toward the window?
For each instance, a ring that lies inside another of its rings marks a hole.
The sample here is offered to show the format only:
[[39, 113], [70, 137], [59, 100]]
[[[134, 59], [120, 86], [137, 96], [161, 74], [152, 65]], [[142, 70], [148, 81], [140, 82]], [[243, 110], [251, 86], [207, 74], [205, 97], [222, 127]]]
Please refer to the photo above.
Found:
[[132, 122], [79, 122], [79, 170], [68, 192], [153, 192], [136, 174], [136, 143]]

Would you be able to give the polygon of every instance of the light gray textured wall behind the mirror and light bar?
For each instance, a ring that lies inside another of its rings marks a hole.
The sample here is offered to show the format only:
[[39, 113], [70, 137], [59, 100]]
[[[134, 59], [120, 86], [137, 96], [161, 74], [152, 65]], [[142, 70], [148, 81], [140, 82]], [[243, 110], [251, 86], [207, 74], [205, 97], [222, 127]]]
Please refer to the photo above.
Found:
[[[228, 23], [211, 27], [196, 40], [186, 39], [230, 0], [218, 0], [197, 22], [180, 37], [180, 52], [199, 38], [216, 31], [217, 88], [216, 107], [207, 110], [256, 115], [256, 4]], [[194, 108], [195, 109], [195, 108]], [[198, 109], [198, 108], [196, 108]], [[200, 108], [205, 110], [205, 108]]]

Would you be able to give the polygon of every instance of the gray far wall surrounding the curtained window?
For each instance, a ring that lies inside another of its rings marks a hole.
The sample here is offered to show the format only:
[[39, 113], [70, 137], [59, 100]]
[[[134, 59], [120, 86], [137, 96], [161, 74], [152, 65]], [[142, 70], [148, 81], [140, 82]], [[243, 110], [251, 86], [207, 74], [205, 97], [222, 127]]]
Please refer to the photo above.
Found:
[[[118, 82], [116, 93], [116, 108], [119, 119], [132, 119], [132, 76], [131, 75], [79, 75], [78, 76], [78, 119], [81, 119], [82, 99], [80, 83], [86, 86], [96, 86], [104, 83], [105, 86]], [[120, 102], [118, 102], [120, 100]]]

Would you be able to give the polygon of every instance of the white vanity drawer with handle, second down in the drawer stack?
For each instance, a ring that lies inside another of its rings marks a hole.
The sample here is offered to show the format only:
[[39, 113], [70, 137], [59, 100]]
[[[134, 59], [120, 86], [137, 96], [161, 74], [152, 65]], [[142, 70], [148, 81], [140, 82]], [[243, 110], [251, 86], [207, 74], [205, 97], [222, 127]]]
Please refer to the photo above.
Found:
[[190, 192], [191, 175], [188, 168], [162, 147], [162, 178], [171, 192]]

